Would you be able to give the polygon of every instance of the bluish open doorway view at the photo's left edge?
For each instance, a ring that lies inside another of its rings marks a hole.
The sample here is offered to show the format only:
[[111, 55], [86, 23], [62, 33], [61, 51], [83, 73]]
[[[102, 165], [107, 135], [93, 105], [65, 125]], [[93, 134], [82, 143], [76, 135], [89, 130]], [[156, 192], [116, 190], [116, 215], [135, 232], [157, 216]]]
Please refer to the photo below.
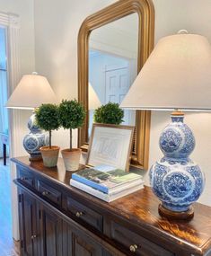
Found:
[[0, 26], [0, 255], [19, 255], [13, 241], [12, 188], [9, 156], [7, 28]]

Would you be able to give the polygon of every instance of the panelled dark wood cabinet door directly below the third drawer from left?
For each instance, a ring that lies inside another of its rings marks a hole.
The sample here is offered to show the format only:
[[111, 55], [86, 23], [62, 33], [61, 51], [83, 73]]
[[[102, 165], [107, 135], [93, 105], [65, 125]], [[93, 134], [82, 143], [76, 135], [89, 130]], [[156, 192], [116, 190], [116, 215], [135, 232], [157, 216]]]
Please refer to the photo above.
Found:
[[102, 256], [102, 247], [91, 236], [63, 222], [63, 256]]

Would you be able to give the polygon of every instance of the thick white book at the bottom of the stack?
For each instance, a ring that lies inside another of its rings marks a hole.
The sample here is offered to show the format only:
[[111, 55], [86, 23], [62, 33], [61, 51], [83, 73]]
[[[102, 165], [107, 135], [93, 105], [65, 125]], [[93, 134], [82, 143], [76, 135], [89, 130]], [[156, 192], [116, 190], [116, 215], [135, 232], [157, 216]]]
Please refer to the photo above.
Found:
[[125, 190], [121, 190], [118, 193], [109, 195], [109, 194], [103, 193], [99, 190], [95, 190], [92, 187], [85, 185], [84, 183], [80, 183], [80, 182], [72, 180], [72, 179], [70, 180], [70, 185], [79, 190], [83, 190], [84, 192], [91, 194], [92, 196], [94, 196], [98, 199], [101, 199], [103, 201], [106, 201], [106, 202], [112, 202], [116, 199], [120, 199], [122, 197], [125, 197], [125, 196], [133, 193], [133, 192], [136, 192], [137, 190], [141, 190], [144, 188], [144, 183], [141, 183], [136, 186], [126, 188]]

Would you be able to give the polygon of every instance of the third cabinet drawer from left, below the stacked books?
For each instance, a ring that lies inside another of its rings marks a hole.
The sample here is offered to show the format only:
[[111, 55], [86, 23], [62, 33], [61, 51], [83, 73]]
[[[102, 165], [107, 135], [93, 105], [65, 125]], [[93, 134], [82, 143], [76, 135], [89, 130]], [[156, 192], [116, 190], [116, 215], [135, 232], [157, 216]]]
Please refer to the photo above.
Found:
[[99, 231], [102, 231], [102, 216], [89, 207], [75, 201], [70, 197], [67, 198], [67, 210], [78, 218], [84, 220]]

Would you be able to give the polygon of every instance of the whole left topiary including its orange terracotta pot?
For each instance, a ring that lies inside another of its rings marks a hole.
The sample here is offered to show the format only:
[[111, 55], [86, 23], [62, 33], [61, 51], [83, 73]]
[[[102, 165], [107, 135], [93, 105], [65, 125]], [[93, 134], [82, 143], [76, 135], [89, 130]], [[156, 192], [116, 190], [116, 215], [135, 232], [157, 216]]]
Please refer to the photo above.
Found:
[[60, 126], [57, 105], [42, 104], [40, 108], [35, 110], [35, 118], [38, 126], [49, 133], [49, 146], [40, 147], [43, 163], [47, 167], [57, 166], [59, 146], [51, 145], [52, 130]]

